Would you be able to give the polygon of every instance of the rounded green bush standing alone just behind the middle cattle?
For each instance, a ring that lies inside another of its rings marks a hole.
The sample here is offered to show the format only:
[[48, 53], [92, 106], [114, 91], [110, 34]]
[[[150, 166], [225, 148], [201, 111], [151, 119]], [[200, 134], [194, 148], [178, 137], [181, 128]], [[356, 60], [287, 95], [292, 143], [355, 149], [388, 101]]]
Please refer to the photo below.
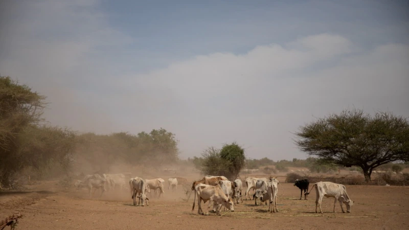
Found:
[[224, 145], [221, 150], [210, 147], [197, 158], [200, 170], [205, 175], [225, 176], [230, 180], [237, 178], [245, 165], [244, 149], [236, 143]]

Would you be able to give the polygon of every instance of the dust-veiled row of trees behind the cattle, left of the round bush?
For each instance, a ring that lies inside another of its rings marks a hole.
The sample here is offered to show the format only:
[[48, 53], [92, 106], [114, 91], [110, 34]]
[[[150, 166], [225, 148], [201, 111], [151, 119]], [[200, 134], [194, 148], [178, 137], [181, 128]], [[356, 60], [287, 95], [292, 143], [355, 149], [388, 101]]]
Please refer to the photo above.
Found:
[[165, 129], [153, 129], [137, 135], [127, 132], [78, 136], [77, 158], [83, 158], [94, 170], [108, 171], [117, 162], [131, 165], [162, 165], [178, 160], [175, 134]]

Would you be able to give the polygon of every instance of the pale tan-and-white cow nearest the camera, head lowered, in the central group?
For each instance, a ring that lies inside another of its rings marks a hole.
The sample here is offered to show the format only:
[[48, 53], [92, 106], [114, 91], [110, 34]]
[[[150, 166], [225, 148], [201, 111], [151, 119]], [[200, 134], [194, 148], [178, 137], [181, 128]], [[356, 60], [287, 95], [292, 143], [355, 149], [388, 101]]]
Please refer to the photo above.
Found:
[[[216, 185], [216, 186], [210, 186], [210, 185], [206, 185], [203, 183], [198, 183], [195, 186], [195, 198], [193, 200], [193, 207], [192, 207], [192, 212], [195, 209], [195, 201], [196, 201], [196, 195], [197, 195], [197, 206], [198, 206], [198, 211], [197, 213], [200, 215], [205, 215], [203, 213], [203, 210], [201, 209], [201, 200], [203, 200], [204, 203], [206, 203], [207, 201], [209, 201], [209, 205], [208, 205], [208, 210], [210, 208], [210, 205], [213, 201], [213, 203], [219, 203], [224, 205], [228, 210], [234, 212], [234, 207], [233, 207], [233, 200], [229, 199], [229, 197], [227, 197], [220, 185]], [[221, 208], [221, 206], [220, 206]], [[208, 213], [206, 213], [208, 214]], [[216, 209], [216, 214], [220, 215], [220, 210], [219, 207]]]

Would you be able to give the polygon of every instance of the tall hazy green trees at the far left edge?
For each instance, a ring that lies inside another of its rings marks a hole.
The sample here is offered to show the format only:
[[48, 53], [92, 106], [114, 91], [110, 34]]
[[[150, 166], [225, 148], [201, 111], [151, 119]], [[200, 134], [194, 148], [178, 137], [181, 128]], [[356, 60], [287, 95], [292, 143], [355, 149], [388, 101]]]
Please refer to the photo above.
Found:
[[0, 77], [0, 184], [11, 185], [27, 168], [44, 171], [58, 165], [63, 173], [71, 166], [75, 133], [39, 125], [45, 98], [10, 77]]

